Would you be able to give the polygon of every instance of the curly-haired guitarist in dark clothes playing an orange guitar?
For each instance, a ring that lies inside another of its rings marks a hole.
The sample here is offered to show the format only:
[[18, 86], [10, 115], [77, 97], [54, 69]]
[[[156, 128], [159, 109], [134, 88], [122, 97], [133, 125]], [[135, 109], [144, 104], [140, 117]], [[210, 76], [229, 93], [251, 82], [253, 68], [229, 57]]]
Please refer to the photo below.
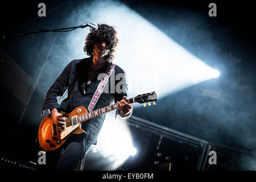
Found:
[[[101, 81], [97, 77], [100, 73], [106, 73], [110, 62], [114, 60], [117, 44], [117, 32], [113, 26], [98, 24], [97, 29], [90, 29], [84, 43], [84, 52], [90, 57], [73, 60], [65, 67], [47, 92], [42, 115], [45, 110], [49, 110], [59, 129], [64, 129], [64, 121], [67, 118], [60, 114], [60, 111], [71, 113], [78, 106], [84, 106], [87, 109]], [[133, 112], [133, 107], [125, 101], [127, 100], [125, 71], [115, 65], [112, 75], [114, 74], [115, 77], [119, 73], [123, 75], [122, 79], [109, 78], [109, 84], [106, 84], [93, 110], [108, 106], [114, 101], [118, 106], [115, 117], [118, 114], [121, 118], [128, 118]], [[116, 89], [113, 92], [111, 89], [113, 85], [116, 88], [117, 84], [121, 85], [119, 88], [122, 92], [117, 92]], [[68, 90], [68, 97], [59, 105], [57, 97], [63, 96], [66, 90]], [[63, 144], [55, 169], [65, 171], [84, 169], [85, 155], [92, 144], [96, 144], [104, 119], [105, 114], [89, 119], [82, 123], [85, 133], [72, 134], [68, 137]]]

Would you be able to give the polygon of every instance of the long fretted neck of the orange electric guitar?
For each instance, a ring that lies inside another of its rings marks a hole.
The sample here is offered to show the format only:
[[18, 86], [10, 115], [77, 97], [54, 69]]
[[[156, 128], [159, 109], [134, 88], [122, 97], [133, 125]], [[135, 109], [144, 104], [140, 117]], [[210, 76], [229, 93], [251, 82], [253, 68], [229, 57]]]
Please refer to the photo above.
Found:
[[[130, 99], [125, 100], [125, 101], [129, 104], [133, 104], [134, 103], [134, 98], [130, 98]], [[102, 107], [101, 109], [90, 111], [90, 113], [87, 113], [87, 114], [82, 114], [82, 115], [77, 117], [77, 121], [79, 123], [82, 123], [84, 121], [87, 121], [88, 119], [98, 117], [99, 115], [108, 113], [108, 112], [113, 111], [115, 109], [117, 109], [117, 103], [115, 103], [113, 105], [110, 105], [110, 106]]]

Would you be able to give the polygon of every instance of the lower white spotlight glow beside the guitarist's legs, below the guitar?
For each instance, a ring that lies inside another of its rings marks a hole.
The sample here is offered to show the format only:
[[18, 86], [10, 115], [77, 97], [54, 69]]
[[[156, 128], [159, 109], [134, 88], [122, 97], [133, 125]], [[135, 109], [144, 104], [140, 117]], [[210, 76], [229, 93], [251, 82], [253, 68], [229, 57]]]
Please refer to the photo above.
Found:
[[98, 151], [109, 163], [108, 169], [114, 170], [121, 166], [137, 150], [133, 147], [131, 133], [127, 123], [115, 112], [106, 115], [104, 125], [98, 135]]

